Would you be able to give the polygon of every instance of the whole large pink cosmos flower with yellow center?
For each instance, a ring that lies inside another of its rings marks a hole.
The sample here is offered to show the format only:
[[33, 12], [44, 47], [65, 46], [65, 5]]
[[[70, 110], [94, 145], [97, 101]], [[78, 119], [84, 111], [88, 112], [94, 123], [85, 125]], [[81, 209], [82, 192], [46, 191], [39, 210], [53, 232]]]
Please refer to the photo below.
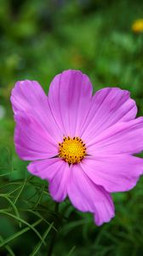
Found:
[[80, 71], [58, 74], [49, 96], [36, 81], [12, 90], [16, 122], [14, 143], [28, 171], [49, 181], [55, 201], [66, 196], [97, 225], [114, 217], [112, 192], [134, 188], [143, 160], [143, 118], [129, 91], [105, 88], [92, 95]]

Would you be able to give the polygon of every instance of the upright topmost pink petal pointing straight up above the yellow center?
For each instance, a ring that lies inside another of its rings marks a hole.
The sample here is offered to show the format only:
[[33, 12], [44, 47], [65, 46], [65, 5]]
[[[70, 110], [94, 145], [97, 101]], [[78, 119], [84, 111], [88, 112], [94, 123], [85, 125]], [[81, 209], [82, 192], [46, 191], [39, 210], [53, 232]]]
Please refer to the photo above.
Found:
[[54, 77], [49, 87], [49, 104], [54, 119], [66, 136], [79, 136], [92, 100], [89, 78], [76, 70]]

